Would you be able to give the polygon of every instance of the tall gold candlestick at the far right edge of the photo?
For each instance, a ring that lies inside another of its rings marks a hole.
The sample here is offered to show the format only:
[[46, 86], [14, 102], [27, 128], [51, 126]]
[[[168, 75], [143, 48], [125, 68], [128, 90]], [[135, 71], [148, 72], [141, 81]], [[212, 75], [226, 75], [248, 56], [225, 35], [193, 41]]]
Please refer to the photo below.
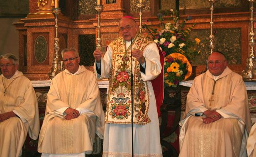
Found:
[[255, 39], [254, 39], [254, 26], [253, 26], [253, 2], [255, 2], [255, 0], [248, 0], [250, 5], [251, 5], [251, 8], [250, 8], [250, 11], [251, 11], [251, 18], [250, 18], [250, 21], [251, 21], [251, 31], [250, 31], [250, 40], [249, 40], [249, 46], [250, 46], [250, 55], [249, 55], [249, 59], [248, 59], [248, 70], [247, 70], [247, 78], [248, 79], [252, 79], [253, 78], [253, 61], [254, 61], [254, 50], [253, 50], [253, 47], [256, 45], [255, 43]]

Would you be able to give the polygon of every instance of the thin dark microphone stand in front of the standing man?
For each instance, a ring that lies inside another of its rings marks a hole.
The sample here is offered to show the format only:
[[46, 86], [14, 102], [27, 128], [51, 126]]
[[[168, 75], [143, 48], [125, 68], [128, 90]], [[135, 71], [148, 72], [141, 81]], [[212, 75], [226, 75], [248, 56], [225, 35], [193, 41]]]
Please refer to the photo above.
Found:
[[132, 41], [133, 37], [131, 39], [131, 99], [132, 99], [132, 157], [133, 157], [133, 57], [132, 57]]

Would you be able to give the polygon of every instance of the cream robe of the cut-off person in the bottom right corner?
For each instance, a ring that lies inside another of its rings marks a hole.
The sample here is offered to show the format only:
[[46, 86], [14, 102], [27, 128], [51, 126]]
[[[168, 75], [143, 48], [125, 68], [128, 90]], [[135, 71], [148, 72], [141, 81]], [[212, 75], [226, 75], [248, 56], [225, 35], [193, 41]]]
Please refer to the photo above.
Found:
[[256, 124], [251, 127], [246, 148], [248, 157], [256, 157]]

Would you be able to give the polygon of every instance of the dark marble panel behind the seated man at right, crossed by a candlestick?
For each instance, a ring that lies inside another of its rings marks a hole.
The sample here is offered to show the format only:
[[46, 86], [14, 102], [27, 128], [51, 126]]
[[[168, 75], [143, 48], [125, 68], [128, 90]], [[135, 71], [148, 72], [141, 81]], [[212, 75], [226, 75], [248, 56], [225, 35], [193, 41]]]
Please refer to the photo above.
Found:
[[[201, 40], [200, 55], [195, 59], [191, 59], [193, 65], [206, 64], [207, 57], [210, 53], [209, 35], [209, 29], [191, 31], [191, 40], [194, 40], [194, 38]], [[241, 29], [214, 29], [214, 36], [214, 51], [223, 52], [228, 60], [228, 64], [241, 64]]]

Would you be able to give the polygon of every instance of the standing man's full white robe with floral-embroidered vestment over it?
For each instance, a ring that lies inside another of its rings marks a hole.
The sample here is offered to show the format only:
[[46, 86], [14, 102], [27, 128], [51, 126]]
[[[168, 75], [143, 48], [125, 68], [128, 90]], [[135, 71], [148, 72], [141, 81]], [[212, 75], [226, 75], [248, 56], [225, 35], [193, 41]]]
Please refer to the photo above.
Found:
[[[146, 64], [144, 74], [133, 58], [134, 157], [162, 157], [156, 100], [150, 82], [161, 72], [159, 51], [156, 44], [146, 41], [143, 35], [134, 38], [132, 49], [143, 51]], [[101, 77], [110, 79], [103, 157], [131, 157], [130, 50], [131, 41], [119, 37], [110, 43], [101, 58]]]

